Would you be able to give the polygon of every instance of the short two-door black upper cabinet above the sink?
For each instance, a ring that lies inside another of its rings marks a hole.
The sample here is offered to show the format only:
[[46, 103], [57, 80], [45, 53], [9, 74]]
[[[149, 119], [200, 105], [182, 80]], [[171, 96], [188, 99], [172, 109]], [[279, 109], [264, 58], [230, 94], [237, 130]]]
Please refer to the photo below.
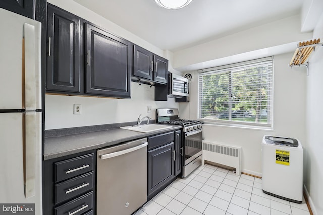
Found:
[[167, 84], [168, 60], [134, 45], [133, 76]]

